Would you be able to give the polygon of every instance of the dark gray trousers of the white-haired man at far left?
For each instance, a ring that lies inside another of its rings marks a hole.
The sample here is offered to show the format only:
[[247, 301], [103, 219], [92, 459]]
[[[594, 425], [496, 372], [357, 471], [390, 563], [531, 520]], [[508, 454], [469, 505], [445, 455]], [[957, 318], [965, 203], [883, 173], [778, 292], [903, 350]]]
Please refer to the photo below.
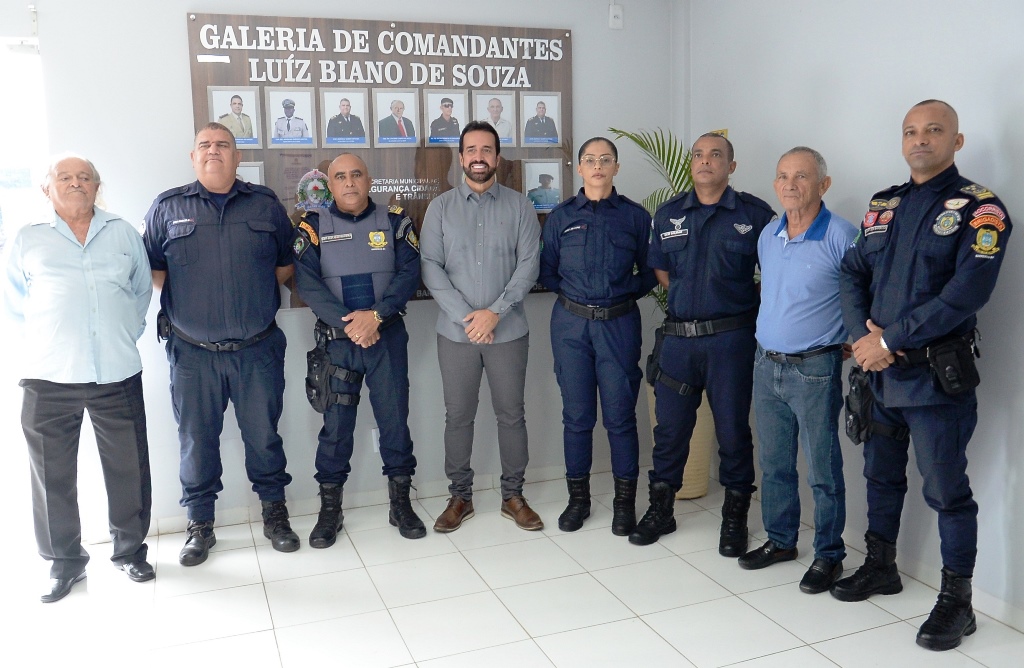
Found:
[[145, 559], [153, 485], [142, 403], [142, 373], [116, 383], [22, 380], [22, 428], [29, 445], [32, 509], [39, 555], [52, 561], [51, 578], [85, 571], [78, 512], [78, 445], [82, 416], [96, 433], [106, 487], [115, 565]]

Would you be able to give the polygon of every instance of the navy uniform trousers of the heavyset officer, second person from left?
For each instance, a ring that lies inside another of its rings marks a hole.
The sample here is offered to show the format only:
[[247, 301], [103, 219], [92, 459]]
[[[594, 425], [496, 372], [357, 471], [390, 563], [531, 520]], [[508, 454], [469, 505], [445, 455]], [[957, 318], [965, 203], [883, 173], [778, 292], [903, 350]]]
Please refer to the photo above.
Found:
[[181, 505], [188, 518], [214, 519], [220, 482], [220, 432], [228, 400], [245, 444], [246, 473], [261, 501], [284, 501], [292, 476], [278, 434], [284, 408], [285, 333], [280, 329], [233, 352], [214, 352], [171, 334], [171, 403], [181, 445]]

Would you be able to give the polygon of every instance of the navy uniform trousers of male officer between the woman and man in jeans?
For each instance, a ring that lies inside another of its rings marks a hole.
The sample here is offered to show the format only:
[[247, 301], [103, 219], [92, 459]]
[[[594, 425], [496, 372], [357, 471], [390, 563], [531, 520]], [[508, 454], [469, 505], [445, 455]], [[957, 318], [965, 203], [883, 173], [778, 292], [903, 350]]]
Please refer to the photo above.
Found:
[[[694, 338], [666, 336], [658, 361], [665, 374], [707, 391], [719, 444], [719, 482], [742, 493], [755, 490], [750, 415], [756, 348], [753, 327]], [[654, 396], [657, 426], [650, 482], [668, 483], [678, 491], [701, 395], [682, 395], [659, 382]]]

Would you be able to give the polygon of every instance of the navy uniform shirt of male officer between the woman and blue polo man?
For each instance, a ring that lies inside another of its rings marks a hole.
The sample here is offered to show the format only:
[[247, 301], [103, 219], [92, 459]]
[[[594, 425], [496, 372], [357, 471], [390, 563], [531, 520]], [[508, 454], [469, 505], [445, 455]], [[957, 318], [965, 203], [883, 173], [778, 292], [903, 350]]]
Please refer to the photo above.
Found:
[[647, 263], [669, 273], [669, 315], [705, 321], [757, 308], [758, 238], [774, 218], [766, 202], [732, 186], [716, 204], [687, 191], [658, 207]]

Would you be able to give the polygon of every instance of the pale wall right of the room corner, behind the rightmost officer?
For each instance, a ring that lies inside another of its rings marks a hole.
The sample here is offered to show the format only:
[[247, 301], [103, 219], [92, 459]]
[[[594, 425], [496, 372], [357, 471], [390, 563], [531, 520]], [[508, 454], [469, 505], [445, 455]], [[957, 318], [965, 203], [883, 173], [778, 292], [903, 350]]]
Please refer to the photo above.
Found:
[[[807, 144], [828, 161], [834, 179], [828, 206], [859, 220], [871, 194], [907, 179], [900, 155], [907, 109], [938, 97], [959, 113], [967, 139], [956, 160], [961, 172], [990, 186], [1011, 216], [1024, 219], [1019, 2], [693, 0], [689, 11], [690, 128], [693, 135], [729, 128], [738, 187], [776, 202], [771, 181], [778, 156]], [[981, 506], [976, 603], [1020, 628], [1024, 356], [1015, 344], [1024, 328], [1019, 296], [1024, 255], [1015, 242], [992, 302], [979, 316], [983, 380], [968, 456]], [[846, 538], [858, 544], [866, 530], [863, 458], [850, 444], [844, 455]], [[934, 584], [941, 568], [936, 516], [922, 499], [914, 470], [909, 478], [899, 561]], [[806, 496], [805, 509], [809, 501]]]

